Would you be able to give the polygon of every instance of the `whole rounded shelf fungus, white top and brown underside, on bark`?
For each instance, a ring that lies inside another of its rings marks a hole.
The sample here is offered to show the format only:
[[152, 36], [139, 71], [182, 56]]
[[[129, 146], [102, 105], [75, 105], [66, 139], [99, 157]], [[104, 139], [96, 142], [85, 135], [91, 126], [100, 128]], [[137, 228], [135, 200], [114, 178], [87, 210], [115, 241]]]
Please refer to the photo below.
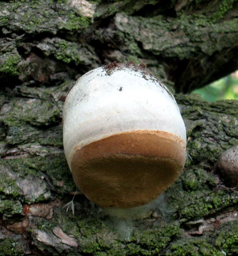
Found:
[[149, 203], [185, 165], [178, 105], [144, 65], [114, 62], [81, 76], [66, 98], [63, 121], [74, 182], [102, 207]]

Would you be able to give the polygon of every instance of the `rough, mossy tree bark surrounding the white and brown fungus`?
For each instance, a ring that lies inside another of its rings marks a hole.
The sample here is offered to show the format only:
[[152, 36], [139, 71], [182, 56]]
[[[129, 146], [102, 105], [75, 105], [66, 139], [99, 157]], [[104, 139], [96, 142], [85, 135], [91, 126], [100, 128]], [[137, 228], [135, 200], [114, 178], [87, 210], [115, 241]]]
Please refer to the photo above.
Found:
[[[188, 158], [147, 218], [109, 218], [76, 187], [63, 153], [63, 98], [110, 61], [144, 62], [176, 92], [238, 67], [238, 2], [0, 2], [0, 256], [235, 256], [238, 190], [215, 173], [238, 144], [238, 102], [177, 94]], [[74, 215], [71, 206], [74, 205]]]

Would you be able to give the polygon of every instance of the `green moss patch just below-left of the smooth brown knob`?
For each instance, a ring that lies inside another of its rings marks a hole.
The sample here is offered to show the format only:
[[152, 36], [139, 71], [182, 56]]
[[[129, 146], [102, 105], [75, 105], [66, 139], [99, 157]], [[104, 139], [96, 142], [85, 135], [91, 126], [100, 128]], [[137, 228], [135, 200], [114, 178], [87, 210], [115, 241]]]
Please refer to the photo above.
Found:
[[205, 170], [184, 171], [165, 192], [172, 218], [199, 219], [238, 202], [238, 191], [215, 190], [216, 178]]

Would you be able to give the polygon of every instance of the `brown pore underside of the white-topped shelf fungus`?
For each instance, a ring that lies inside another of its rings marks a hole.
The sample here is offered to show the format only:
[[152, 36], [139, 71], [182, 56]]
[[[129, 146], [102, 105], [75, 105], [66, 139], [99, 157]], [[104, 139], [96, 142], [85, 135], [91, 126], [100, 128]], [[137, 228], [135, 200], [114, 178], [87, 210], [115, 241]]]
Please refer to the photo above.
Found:
[[164, 131], [115, 134], [76, 150], [72, 175], [85, 196], [102, 207], [140, 206], [178, 178], [185, 148], [184, 141]]

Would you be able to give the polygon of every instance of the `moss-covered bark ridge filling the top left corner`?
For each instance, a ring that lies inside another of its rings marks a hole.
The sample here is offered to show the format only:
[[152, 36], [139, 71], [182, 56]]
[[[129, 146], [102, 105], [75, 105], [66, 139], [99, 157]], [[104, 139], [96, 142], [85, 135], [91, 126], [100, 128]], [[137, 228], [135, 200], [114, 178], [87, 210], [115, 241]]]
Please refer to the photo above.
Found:
[[55, 3], [53, 0], [13, 0], [0, 2], [0, 22], [10, 30], [27, 33], [58, 30], [80, 30], [91, 23], [91, 18], [74, 12], [68, 3]]

